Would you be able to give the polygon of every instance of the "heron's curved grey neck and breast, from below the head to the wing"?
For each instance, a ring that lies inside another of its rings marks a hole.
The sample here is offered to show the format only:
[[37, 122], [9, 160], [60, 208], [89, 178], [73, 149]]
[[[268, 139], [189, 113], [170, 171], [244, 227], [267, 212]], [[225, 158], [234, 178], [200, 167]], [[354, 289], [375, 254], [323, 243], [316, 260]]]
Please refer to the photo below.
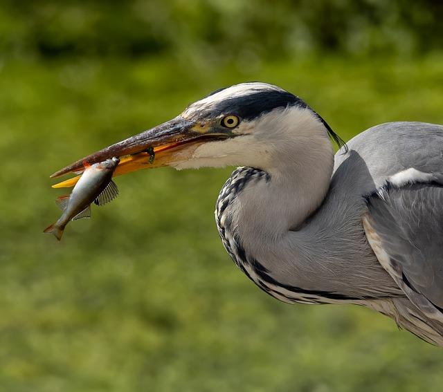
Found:
[[358, 304], [399, 295], [365, 241], [363, 199], [346, 204], [328, 192], [334, 156], [323, 124], [307, 124], [309, 133], [275, 142], [267, 167], [240, 167], [226, 181], [216, 209], [226, 250], [282, 301]]

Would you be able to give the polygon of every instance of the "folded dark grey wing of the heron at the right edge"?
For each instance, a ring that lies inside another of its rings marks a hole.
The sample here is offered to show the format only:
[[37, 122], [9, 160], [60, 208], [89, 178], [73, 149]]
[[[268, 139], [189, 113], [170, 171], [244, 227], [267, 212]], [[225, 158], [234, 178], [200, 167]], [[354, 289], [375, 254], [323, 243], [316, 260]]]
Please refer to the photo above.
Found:
[[411, 302], [443, 321], [443, 182], [387, 183], [367, 198], [368, 241]]

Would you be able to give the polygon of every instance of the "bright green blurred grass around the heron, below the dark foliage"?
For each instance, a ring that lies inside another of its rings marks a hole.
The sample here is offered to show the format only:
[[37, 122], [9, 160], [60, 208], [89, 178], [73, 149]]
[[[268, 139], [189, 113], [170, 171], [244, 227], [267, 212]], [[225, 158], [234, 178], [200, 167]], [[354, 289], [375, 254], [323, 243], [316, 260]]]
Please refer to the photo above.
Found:
[[239, 272], [213, 221], [230, 169], [141, 171], [72, 223], [48, 175], [260, 80], [303, 97], [346, 140], [392, 120], [443, 123], [443, 55], [221, 68], [170, 59], [0, 64], [1, 391], [417, 391], [443, 355], [355, 306], [288, 306]]

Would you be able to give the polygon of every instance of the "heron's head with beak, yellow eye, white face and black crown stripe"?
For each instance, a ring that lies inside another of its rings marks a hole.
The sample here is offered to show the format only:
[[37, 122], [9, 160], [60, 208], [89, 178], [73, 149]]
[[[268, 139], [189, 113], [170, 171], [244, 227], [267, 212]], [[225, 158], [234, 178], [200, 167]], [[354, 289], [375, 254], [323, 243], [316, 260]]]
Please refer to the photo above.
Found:
[[[305, 102], [278, 86], [242, 83], [214, 91], [190, 104], [176, 118], [82, 158], [57, 171], [80, 171], [81, 163], [120, 157], [116, 175], [138, 169], [172, 166], [251, 166], [269, 169], [288, 150], [338, 140]], [[286, 157], [287, 158], [287, 157]]]

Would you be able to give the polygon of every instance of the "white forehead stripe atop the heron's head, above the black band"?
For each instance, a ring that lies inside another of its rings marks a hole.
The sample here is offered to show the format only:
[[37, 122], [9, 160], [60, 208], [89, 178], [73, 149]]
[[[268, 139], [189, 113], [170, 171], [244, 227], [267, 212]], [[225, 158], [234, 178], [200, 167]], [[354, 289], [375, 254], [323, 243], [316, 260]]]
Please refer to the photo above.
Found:
[[183, 112], [183, 115], [190, 114], [193, 111], [201, 110], [205, 106], [212, 106], [213, 104], [224, 101], [228, 98], [242, 97], [259, 91], [284, 91], [284, 90], [278, 86], [274, 86], [273, 84], [267, 84], [262, 82], [234, 84], [234, 86], [224, 88], [218, 93], [214, 93], [212, 95], [209, 95], [208, 97], [204, 97], [202, 100], [194, 102], [193, 104], [188, 106], [188, 108]]

